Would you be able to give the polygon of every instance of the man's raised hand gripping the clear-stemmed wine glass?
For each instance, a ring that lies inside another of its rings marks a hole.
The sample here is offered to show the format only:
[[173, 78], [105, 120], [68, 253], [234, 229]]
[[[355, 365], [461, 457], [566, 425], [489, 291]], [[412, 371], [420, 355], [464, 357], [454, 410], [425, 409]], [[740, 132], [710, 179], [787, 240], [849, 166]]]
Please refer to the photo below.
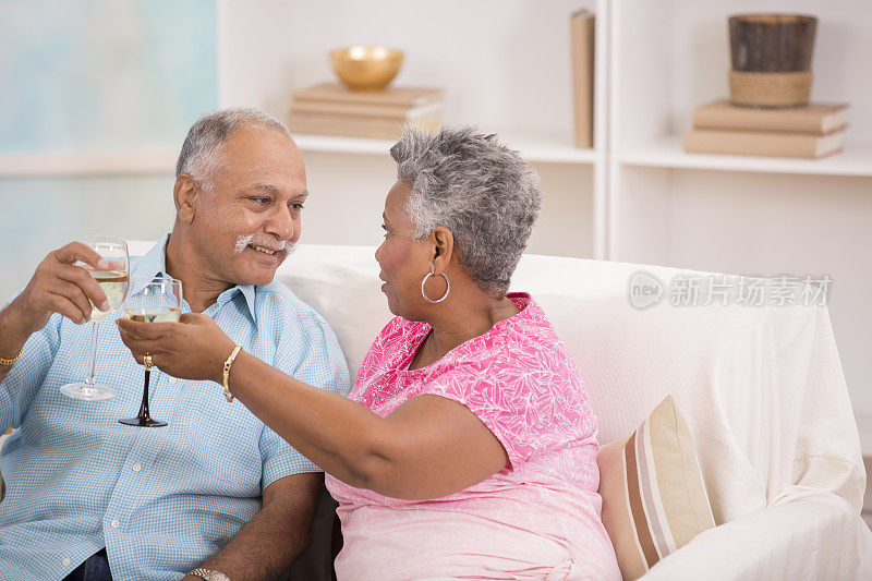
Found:
[[29, 336], [38, 331], [53, 313], [83, 324], [90, 319], [92, 303], [100, 311], [109, 308], [106, 293], [85, 268], [75, 266], [77, 261], [95, 270], [109, 267], [97, 252], [81, 242], [50, 252], [36, 267], [24, 291], [9, 305], [21, 332]]

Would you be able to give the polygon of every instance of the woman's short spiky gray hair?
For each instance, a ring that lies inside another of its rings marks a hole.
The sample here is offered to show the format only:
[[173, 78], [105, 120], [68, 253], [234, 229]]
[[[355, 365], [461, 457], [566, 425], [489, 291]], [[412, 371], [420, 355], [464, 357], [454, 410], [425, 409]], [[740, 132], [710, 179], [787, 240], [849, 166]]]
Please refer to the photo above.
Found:
[[411, 187], [415, 237], [437, 226], [455, 237], [458, 261], [483, 291], [504, 296], [542, 207], [538, 175], [518, 152], [475, 126], [407, 129], [390, 148]]

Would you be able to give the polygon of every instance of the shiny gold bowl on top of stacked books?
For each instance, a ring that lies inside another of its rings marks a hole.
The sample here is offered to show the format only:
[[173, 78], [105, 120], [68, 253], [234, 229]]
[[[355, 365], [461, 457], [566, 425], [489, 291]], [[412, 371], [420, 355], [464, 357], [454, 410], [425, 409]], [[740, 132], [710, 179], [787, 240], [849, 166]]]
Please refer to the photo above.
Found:
[[382, 90], [400, 72], [402, 56], [393, 48], [354, 46], [330, 51], [330, 62], [351, 90]]

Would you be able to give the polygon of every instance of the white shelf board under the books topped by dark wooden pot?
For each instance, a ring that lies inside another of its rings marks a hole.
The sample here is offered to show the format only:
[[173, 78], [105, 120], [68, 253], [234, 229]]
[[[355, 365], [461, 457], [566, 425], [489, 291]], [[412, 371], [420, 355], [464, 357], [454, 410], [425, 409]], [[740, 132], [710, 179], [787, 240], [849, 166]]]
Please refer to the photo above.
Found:
[[673, 135], [645, 146], [619, 152], [617, 160], [625, 166], [652, 168], [872, 177], [872, 144], [865, 143], [847, 143], [845, 150], [823, 159], [797, 159], [689, 154], [683, 149], [682, 137]]

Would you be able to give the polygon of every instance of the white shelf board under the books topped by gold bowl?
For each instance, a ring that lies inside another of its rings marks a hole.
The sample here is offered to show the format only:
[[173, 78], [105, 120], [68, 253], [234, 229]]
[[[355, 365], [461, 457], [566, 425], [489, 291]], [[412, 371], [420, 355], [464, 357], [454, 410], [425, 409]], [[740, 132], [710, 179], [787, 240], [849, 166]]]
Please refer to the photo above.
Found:
[[[598, 155], [594, 149], [580, 149], [559, 138], [511, 133], [497, 133], [497, 136], [510, 147], [518, 148], [528, 161], [593, 164]], [[390, 147], [396, 143], [396, 140], [366, 140], [303, 133], [294, 134], [294, 141], [303, 152], [362, 155], [388, 155]]]

